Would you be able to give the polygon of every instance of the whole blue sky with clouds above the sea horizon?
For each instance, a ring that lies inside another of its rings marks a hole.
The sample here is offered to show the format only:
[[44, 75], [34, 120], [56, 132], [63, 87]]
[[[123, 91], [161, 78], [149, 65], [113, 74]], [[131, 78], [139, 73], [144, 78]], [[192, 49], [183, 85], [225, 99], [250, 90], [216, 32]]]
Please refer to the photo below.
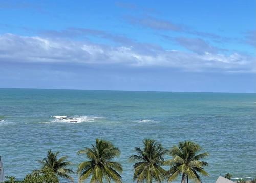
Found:
[[0, 87], [256, 92], [256, 1], [0, 1]]

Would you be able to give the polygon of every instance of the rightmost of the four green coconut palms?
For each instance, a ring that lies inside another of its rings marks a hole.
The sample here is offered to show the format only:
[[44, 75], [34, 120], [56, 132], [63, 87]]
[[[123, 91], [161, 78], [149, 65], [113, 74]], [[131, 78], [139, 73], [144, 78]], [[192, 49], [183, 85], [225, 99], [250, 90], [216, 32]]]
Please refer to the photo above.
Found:
[[209, 176], [203, 168], [204, 166], [208, 166], [208, 163], [201, 161], [201, 159], [209, 154], [207, 152], [197, 154], [201, 150], [202, 148], [192, 141], [180, 142], [178, 146], [173, 146], [169, 151], [173, 159], [167, 160], [164, 163], [165, 165], [172, 166], [166, 172], [168, 182], [175, 180], [178, 175], [182, 175], [182, 183], [185, 183], [185, 179], [188, 183], [188, 178], [196, 182], [201, 182], [201, 177], [198, 173]]

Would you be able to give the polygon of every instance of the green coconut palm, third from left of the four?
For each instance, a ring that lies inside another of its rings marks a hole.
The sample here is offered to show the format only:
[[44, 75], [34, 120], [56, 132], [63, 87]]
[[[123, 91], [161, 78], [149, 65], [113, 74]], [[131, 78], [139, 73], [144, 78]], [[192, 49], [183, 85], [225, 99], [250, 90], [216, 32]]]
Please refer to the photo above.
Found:
[[137, 180], [138, 183], [144, 181], [151, 183], [153, 180], [161, 182], [166, 172], [161, 165], [164, 163], [163, 157], [167, 150], [152, 139], [144, 139], [143, 144], [143, 149], [135, 147], [137, 155], [132, 155], [129, 159], [131, 162], [136, 162], [133, 165], [133, 180]]

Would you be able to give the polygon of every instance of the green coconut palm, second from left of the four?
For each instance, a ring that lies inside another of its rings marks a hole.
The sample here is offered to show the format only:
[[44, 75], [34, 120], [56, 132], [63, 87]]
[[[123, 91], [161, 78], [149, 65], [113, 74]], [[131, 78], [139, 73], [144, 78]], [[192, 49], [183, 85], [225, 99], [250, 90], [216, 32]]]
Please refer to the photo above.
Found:
[[89, 161], [79, 164], [79, 182], [84, 182], [91, 176], [91, 182], [102, 183], [105, 179], [108, 182], [122, 182], [122, 177], [118, 172], [122, 172], [122, 165], [112, 161], [120, 155], [120, 150], [109, 141], [96, 139], [92, 148], [80, 150], [77, 154], [86, 154]]

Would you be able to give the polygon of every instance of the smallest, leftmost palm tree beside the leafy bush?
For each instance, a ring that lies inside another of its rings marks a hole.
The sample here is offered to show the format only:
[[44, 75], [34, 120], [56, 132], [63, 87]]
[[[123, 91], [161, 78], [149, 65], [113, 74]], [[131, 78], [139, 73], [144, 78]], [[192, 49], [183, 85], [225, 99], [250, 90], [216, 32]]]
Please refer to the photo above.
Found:
[[73, 182], [73, 178], [68, 175], [68, 173], [74, 173], [71, 169], [66, 168], [72, 163], [67, 160], [67, 156], [63, 156], [58, 159], [59, 152], [53, 153], [51, 150], [47, 151], [47, 156], [39, 160], [38, 162], [42, 164], [42, 168], [50, 168], [57, 176], [62, 178], [68, 178]]

